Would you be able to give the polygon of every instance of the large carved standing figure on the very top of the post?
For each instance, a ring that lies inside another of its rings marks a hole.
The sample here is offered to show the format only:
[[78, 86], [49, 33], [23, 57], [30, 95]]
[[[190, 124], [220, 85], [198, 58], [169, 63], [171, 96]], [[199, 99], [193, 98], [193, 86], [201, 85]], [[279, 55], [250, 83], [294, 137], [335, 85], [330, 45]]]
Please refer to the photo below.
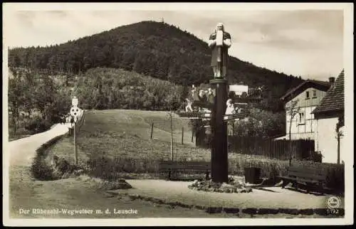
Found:
[[209, 47], [211, 48], [211, 67], [214, 71], [214, 78], [225, 78], [229, 60], [228, 49], [231, 47], [231, 36], [230, 33], [224, 31], [223, 23], [218, 23], [215, 32], [211, 33]]

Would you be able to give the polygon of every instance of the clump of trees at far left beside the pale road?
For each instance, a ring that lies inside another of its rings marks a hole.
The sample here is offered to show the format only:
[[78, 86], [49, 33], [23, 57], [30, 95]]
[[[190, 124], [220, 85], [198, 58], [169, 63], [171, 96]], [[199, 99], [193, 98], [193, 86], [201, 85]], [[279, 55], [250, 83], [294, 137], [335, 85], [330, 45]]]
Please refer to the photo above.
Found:
[[27, 129], [41, 132], [61, 122], [70, 107], [70, 88], [58, 78], [33, 73], [26, 69], [9, 70], [10, 133]]

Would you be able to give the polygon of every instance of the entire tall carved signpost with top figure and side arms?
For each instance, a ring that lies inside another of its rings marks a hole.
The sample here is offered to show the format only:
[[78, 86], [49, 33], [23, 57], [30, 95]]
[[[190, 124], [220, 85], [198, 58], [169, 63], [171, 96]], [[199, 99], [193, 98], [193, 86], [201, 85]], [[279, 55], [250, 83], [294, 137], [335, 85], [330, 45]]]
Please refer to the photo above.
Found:
[[[187, 98], [185, 112], [177, 112], [180, 117], [189, 119], [209, 120], [211, 133], [211, 179], [214, 182], [228, 182], [227, 154], [227, 122], [248, 117], [247, 111], [236, 112], [234, 105], [246, 105], [258, 102], [256, 98], [240, 97], [234, 100], [228, 98], [229, 85], [226, 80], [228, 49], [231, 46], [231, 36], [224, 31], [224, 25], [218, 23], [216, 31], [209, 37], [211, 48], [211, 67], [214, 79], [210, 80], [208, 90], [199, 90], [192, 86], [192, 97]], [[198, 107], [198, 109], [197, 109]]]

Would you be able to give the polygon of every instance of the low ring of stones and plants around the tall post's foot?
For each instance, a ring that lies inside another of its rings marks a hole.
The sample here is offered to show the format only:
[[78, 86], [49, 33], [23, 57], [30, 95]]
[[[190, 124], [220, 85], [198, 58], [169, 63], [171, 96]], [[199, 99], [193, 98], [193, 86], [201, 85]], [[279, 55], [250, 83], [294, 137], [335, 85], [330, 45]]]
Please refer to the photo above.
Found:
[[228, 183], [216, 183], [211, 180], [195, 180], [188, 186], [188, 188], [197, 191], [209, 191], [216, 193], [249, 193], [252, 191], [252, 189], [248, 188], [244, 182], [234, 179], [229, 179]]

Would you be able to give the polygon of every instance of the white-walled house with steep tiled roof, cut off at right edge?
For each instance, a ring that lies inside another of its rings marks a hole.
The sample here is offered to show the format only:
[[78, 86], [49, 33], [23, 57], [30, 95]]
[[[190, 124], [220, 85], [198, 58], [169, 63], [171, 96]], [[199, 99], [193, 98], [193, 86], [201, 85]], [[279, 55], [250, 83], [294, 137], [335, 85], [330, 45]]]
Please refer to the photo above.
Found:
[[[313, 110], [313, 115], [318, 124], [315, 134], [315, 151], [320, 151], [323, 155], [322, 162], [325, 163], [337, 163], [338, 161], [336, 124], [339, 120], [343, 123], [345, 115], [344, 97], [344, 70], [342, 70], [333, 86], [321, 100], [320, 105]], [[345, 146], [341, 137], [340, 163], [345, 156], [344, 149]]]

